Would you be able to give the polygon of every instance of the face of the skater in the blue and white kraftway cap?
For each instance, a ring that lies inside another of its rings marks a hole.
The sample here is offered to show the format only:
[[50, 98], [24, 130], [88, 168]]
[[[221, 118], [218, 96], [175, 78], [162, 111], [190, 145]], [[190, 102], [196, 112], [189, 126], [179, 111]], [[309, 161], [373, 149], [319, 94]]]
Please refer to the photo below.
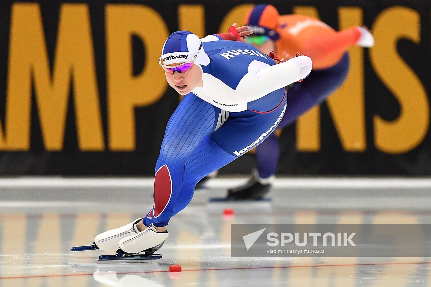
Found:
[[[171, 64], [168, 66], [177, 66], [179, 63]], [[166, 72], [166, 81], [168, 84], [173, 87], [178, 94], [187, 95], [190, 93], [195, 87], [202, 87], [202, 72], [200, 68], [196, 65], [193, 65], [190, 69], [188, 69], [184, 73], [180, 73], [175, 71], [173, 74]]]

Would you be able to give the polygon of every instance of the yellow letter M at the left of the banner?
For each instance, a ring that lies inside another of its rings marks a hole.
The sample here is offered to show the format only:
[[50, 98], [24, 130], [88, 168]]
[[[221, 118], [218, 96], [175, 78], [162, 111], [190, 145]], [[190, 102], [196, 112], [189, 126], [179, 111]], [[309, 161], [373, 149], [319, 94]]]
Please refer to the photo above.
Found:
[[31, 83], [34, 78], [41, 131], [47, 150], [62, 150], [70, 79], [81, 150], [103, 150], [103, 131], [86, 4], [63, 4], [53, 75], [38, 4], [12, 6], [6, 98], [6, 146], [30, 147]]

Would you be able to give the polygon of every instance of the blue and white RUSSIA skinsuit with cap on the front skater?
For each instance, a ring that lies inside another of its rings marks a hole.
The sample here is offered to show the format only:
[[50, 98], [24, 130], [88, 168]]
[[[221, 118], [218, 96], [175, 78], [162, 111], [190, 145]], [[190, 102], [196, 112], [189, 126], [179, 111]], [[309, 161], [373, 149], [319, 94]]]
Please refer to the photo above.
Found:
[[194, 64], [202, 70], [203, 87], [185, 95], [169, 119], [146, 226], [168, 225], [190, 203], [200, 179], [262, 143], [286, 111], [286, 86], [306, 78], [312, 69], [307, 56], [276, 65], [244, 42], [217, 35], [200, 40], [188, 31], [169, 36], [163, 61], [169, 65], [179, 62], [178, 56], [193, 56], [201, 41]]

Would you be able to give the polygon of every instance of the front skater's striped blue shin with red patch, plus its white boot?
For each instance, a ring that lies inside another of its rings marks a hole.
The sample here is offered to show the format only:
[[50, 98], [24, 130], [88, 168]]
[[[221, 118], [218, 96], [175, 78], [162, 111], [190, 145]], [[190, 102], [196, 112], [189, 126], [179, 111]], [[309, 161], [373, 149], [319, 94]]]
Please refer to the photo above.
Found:
[[[169, 219], [178, 212], [177, 207], [184, 198], [193, 194], [193, 190], [189, 190], [191, 194], [181, 193], [186, 160], [197, 153], [196, 148], [203, 138], [215, 130], [219, 112], [220, 109], [193, 94], [186, 95], [178, 105], [169, 119], [156, 163], [153, 208], [144, 221], [138, 223], [140, 232], [119, 241], [120, 253], [159, 248], [166, 240]], [[206, 153], [202, 152], [202, 155]]]

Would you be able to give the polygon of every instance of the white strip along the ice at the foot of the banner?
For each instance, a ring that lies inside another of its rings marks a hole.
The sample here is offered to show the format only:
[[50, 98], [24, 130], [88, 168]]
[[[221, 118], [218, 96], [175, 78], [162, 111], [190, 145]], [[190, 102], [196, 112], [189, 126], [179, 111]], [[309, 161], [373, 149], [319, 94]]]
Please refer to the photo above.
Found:
[[[209, 188], [228, 188], [244, 184], [247, 178], [213, 178]], [[153, 187], [153, 178], [0, 178], [0, 188]], [[277, 178], [275, 188], [431, 188], [431, 178]]]

